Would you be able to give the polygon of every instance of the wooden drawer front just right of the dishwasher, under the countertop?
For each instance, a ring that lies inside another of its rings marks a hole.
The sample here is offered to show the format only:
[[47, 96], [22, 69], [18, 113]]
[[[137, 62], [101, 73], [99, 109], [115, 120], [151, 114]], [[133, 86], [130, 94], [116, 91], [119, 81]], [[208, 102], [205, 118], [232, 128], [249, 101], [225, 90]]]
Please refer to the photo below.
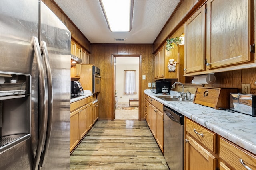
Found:
[[190, 119], [186, 121], [186, 131], [210, 151], [216, 153], [216, 133], [213, 133]]

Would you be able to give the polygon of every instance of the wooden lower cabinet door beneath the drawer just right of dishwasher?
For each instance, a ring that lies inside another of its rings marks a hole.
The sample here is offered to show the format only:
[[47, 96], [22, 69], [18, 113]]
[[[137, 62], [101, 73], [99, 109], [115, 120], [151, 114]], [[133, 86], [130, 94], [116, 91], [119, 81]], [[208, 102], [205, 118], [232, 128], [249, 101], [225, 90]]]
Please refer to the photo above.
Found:
[[186, 170], [215, 170], [217, 158], [189, 135], [186, 139]]

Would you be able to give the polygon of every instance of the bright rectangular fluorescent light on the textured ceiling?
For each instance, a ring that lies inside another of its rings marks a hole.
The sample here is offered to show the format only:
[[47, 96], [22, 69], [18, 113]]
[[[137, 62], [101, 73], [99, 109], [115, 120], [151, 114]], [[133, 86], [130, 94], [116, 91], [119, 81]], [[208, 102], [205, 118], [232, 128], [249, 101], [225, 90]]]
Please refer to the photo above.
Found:
[[100, 5], [112, 32], [128, 32], [132, 29], [134, 0], [100, 0]]

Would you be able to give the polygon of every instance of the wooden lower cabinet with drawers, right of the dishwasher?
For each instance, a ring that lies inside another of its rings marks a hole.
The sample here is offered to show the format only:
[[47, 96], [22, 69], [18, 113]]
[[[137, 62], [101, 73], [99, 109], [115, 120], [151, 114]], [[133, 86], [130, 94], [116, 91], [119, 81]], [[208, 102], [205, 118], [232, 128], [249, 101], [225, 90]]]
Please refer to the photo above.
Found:
[[188, 118], [185, 142], [186, 170], [256, 170], [255, 154]]

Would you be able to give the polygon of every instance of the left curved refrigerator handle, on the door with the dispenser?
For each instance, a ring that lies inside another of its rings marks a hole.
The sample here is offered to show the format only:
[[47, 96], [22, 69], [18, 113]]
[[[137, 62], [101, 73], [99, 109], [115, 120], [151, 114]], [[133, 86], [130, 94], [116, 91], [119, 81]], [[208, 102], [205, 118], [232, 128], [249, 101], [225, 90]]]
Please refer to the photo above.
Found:
[[33, 46], [37, 61], [37, 67], [38, 67], [38, 79], [39, 79], [39, 110], [38, 110], [38, 117], [39, 117], [39, 126], [38, 126], [38, 142], [37, 142], [37, 148], [36, 148], [36, 156], [33, 164], [33, 170], [38, 169], [38, 165], [40, 162], [40, 156], [42, 152], [43, 147], [43, 139], [44, 134], [46, 130], [46, 123], [47, 123], [47, 117], [46, 117], [46, 99], [45, 99], [45, 82], [44, 82], [44, 67], [43, 67], [43, 61], [42, 61], [42, 55], [40, 51], [40, 45], [39, 41], [36, 37], [33, 37]]

